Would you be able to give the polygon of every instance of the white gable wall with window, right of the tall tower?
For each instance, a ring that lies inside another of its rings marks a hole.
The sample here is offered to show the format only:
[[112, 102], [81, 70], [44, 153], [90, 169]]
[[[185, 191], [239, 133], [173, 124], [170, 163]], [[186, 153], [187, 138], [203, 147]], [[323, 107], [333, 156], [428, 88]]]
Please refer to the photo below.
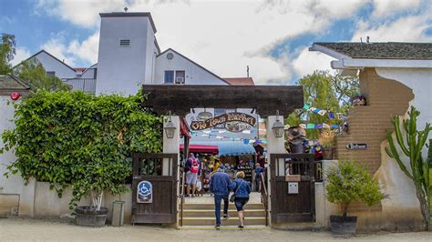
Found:
[[[172, 53], [174, 58], [167, 59], [167, 54]], [[165, 79], [165, 71], [176, 70], [185, 71], [185, 84], [186, 85], [228, 85], [221, 81], [217, 76], [211, 75], [210, 72], [204, 70], [190, 62], [190, 60], [178, 55], [177, 53], [169, 50], [163, 55], [156, 58], [156, 79], [154, 84], [163, 84]]]

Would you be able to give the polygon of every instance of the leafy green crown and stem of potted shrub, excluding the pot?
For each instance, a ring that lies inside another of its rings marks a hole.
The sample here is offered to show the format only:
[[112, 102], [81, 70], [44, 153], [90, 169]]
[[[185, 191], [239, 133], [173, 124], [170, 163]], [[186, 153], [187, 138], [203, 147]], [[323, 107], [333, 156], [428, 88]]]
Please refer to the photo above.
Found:
[[341, 204], [344, 217], [352, 201], [360, 200], [368, 206], [381, 201], [384, 195], [365, 167], [354, 161], [340, 161], [337, 166], [326, 172], [327, 199], [331, 203]]

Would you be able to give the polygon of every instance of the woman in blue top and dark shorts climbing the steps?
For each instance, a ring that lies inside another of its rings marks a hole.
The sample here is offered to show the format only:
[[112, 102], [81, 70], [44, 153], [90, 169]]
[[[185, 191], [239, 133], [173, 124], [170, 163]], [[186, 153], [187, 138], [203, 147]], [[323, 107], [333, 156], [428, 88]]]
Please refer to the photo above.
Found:
[[[246, 205], [249, 201], [249, 194], [251, 193], [251, 186], [244, 178], [244, 172], [239, 171], [235, 175], [237, 179], [231, 184], [231, 189], [234, 190], [234, 196], [233, 202], [235, 207], [237, 208], [237, 212], [239, 214], [239, 221], [240, 221], [240, 228], [244, 227], [244, 208], [243, 206]], [[230, 199], [232, 200], [232, 198]]]

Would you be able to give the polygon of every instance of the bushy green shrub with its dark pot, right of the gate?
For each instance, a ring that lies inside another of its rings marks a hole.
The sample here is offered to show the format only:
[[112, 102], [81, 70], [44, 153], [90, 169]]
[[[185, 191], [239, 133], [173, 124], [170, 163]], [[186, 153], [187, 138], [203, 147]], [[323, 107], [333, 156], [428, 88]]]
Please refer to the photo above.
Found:
[[342, 207], [342, 216], [330, 216], [330, 227], [335, 234], [355, 233], [357, 217], [346, 216], [351, 202], [362, 201], [373, 206], [384, 197], [377, 181], [369, 175], [364, 166], [354, 161], [340, 161], [337, 166], [330, 167], [326, 172], [325, 182], [327, 200]]

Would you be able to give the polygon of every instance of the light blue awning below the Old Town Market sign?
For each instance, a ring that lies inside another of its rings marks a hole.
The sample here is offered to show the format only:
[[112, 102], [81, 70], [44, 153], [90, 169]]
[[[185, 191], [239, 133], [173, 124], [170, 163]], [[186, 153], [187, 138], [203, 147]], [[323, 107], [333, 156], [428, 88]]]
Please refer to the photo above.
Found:
[[255, 155], [255, 148], [252, 144], [244, 144], [242, 141], [197, 141], [193, 145], [200, 146], [217, 146], [219, 147], [219, 156], [242, 156]]

